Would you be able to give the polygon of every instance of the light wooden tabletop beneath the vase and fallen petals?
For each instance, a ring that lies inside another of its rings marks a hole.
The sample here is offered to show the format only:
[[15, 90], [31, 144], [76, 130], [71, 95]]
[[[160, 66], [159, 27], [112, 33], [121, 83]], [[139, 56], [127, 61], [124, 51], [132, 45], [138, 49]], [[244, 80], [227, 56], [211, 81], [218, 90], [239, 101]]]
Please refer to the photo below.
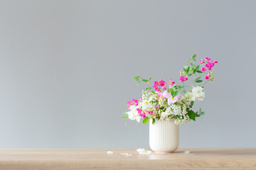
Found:
[[256, 169], [256, 148], [178, 149], [149, 155], [136, 149], [0, 149], [0, 169]]

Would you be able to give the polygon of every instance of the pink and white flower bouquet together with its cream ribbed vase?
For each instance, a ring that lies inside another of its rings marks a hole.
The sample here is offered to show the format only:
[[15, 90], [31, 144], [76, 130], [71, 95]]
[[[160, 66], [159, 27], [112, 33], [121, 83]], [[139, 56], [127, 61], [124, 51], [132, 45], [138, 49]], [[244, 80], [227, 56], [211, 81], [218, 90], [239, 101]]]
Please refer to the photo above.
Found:
[[[183, 67], [183, 71], [180, 71], [180, 84], [176, 84], [174, 79], [170, 79], [169, 82], [161, 79], [154, 81], [154, 85], [151, 86], [151, 77], [149, 79], [134, 77], [137, 84], [144, 81], [147, 86], [142, 91], [139, 101], [137, 99], [127, 101], [129, 111], [124, 112], [122, 118], [138, 122], [143, 119], [143, 124], [150, 120], [149, 145], [151, 149], [156, 152], [173, 152], [178, 148], [178, 144], [174, 146], [174, 142], [178, 143], [178, 125], [188, 123], [190, 120], [196, 121], [196, 117], [205, 114], [201, 108], [199, 111], [193, 111], [193, 103], [203, 101], [205, 98], [203, 89], [209, 81], [213, 81], [214, 76], [211, 70], [217, 63], [216, 60], [208, 57], [197, 63], [196, 55], [192, 55], [188, 64]], [[198, 74], [202, 74], [203, 77]], [[190, 79], [192, 83], [188, 85]], [[160, 138], [169, 143], [175, 141], [166, 147], [162, 146], [163, 141], [159, 141]], [[156, 148], [153, 149], [152, 147], [155, 147], [153, 145], [157, 145]]]

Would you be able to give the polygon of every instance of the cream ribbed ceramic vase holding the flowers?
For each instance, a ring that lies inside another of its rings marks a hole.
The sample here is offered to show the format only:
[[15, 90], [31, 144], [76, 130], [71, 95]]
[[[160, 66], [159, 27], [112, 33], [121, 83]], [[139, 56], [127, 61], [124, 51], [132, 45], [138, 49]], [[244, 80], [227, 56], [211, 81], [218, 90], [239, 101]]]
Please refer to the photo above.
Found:
[[174, 120], [156, 120], [149, 122], [149, 146], [156, 153], [174, 152], [178, 149], [179, 130]]

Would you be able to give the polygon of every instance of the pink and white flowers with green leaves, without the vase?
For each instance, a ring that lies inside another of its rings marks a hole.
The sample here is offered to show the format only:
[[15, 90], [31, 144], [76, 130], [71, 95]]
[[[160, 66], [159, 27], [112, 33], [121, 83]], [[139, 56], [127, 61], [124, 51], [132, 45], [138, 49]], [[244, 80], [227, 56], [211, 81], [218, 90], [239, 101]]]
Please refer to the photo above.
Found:
[[[143, 124], [146, 124], [149, 118], [152, 119], [153, 124], [155, 120], [176, 119], [174, 121], [176, 125], [188, 123], [190, 120], [196, 121], [196, 117], [204, 115], [204, 112], [201, 108], [199, 111], [193, 111], [193, 103], [203, 101], [205, 98], [203, 89], [209, 81], [213, 81], [211, 70], [216, 63], [218, 63], [216, 60], [206, 57], [197, 64], [196, 55], [192, 55], [188, 64], [183, 67], [183, 71], [180, 71], [180, 85], [176, 84], [174, 79], [170, 79], [167, 83], [161, 79], [154, 81], [154, 86], [151, 86], [151, 77], [149, 79], [134, 77], [137, 84], [144, 81], [147, 86], [139, 101], [136, 99], [127, 101], [129, 111], [124, 112], [122, 118], [138, 122], [143, 118]], [[203, 74], [205, 80], [197, 77], [197, 74]], [[189, 79], [193, 79], [191, 86], [186, 85]]]

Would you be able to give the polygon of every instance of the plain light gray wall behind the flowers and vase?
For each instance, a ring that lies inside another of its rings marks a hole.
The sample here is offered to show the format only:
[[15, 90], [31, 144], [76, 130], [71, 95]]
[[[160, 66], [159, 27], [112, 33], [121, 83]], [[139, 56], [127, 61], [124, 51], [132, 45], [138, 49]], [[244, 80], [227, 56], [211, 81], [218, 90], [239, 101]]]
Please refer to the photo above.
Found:
[[256, 1], [0, 1], [0, 147], [149, 147], [132, 77], [218, 60], [180, 147], [256, 147]]

